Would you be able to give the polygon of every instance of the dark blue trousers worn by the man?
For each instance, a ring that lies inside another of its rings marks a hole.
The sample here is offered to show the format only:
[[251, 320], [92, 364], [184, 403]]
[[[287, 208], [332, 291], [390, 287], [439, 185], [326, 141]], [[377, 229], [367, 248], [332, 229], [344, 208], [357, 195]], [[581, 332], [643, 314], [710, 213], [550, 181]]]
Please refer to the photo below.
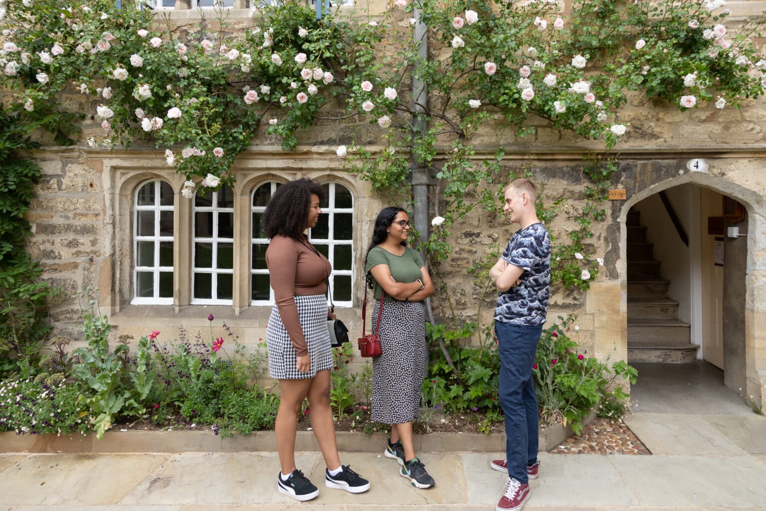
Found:
[[506, 416], [508, 475], [528, 483], [526, 467], [535, 463], [538, 449], [539, 420], [532, 364], [542, 325], [495, 321], [495, 333], [500, 354], [500, 406]]

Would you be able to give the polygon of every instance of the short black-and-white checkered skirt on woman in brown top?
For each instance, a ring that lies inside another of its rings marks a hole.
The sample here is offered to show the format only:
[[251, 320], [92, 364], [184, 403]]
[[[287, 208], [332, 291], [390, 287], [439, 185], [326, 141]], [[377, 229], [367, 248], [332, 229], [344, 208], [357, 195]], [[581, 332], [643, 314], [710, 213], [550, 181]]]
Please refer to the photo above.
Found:
[[296, 356], [290, 335], [287, 333], [279, 307], [273, 306], [266, 331], [269, 349], [269, 375], [279, 379], [313, 378], [319, 371], [332, 368], [330, 334], [327, 330], [327, 296], [323, 294], [296, 295], [300, 326], [306, 338], [311, 356], [309, 372], [296, 369]]

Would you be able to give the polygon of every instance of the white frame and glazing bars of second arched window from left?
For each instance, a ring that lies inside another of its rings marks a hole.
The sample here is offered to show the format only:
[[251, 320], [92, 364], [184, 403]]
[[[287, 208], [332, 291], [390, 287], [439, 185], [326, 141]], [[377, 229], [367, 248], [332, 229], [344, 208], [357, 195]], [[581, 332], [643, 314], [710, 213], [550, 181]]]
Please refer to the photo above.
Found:
[[[212, 206], [197, 206], [195, 202], [197, 197], [192, 199], [191, 203], [191, 289], [189, 290], [189, 296], [191, 305], [233, 305], [234, 304], [234, 260], [232, 259], [232, 268], [218, 268], [218, 244], [219, 243], [231, 243], [232, 254], [234, 254], [234, 237], [218, 237], [218, 213], [231, 213], [234, 218], [234, 208], [219, 208], [218, 207], [218, 191], [208, 192], [211, 195]], [[233, 191], [232, 191], [233, 193]], [[213, 214], [213, 236], [212, 237], [197, 237], [197, 213], [210, 211]], [[198, 268], [196, 267], [196, 251], [197, 242], [211, 243], [213, 245], [211, 253], [211, 267], [210, 268]], [[195, 298], [194, 297], [194, 284], [197, 274], [212, 274], [211, 277], [211, 295], [213, 298]], [[218, 299], [218, 274], [231, 274], [231, 299], [220, 300]]]

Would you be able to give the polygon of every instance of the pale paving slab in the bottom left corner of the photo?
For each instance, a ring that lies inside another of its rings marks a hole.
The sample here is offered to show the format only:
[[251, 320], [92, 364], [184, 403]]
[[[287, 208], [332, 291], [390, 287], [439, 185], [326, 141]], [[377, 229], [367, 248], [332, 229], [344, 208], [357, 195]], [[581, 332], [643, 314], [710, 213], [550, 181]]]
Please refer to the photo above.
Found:
[[6, 504], [116, 504], [161, 466], [163, 454], [35, 454], [0, 473]]

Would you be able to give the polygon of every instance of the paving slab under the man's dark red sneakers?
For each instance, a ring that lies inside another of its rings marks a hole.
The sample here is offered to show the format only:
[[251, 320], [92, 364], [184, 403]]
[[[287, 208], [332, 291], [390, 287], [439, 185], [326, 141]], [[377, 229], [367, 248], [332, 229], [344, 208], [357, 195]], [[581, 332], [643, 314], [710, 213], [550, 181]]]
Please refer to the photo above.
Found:
[[[506, 475], [489, 468], [504, 453], [463, 453], [468, 502], [495, 506], [502, 496]], [[630, 487], [606, 456], [561, 456], [540, 454], [540, 477], [531, 480], [528, 505], [550, 507], [635, 506], [639, 504]], [[597, 491], [596, 491], [597, 489]], [[525, 506], [525, 509], [528, 509]]]

